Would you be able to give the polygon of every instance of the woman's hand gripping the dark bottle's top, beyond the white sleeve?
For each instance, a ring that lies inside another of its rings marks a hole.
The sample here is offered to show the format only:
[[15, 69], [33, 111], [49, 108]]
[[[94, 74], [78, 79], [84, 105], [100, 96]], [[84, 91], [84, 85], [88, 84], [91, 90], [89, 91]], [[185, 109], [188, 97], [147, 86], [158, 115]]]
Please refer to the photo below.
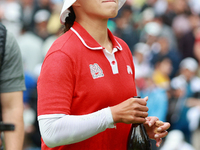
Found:
[[148, 116], [148, 97], [129, 98], [124, 102], [110, 107], [114, 123], [140, 124]]

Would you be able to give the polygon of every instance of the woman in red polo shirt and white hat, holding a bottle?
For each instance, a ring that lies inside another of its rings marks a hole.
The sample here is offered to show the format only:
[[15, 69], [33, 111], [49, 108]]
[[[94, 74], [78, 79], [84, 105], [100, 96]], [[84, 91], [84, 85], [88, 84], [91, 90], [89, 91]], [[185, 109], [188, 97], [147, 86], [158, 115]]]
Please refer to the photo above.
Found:
[[127, 44], [107, 29], [125, 0], [65, 0], [61, 35], [47, 52], [38, 78], [42, 150], [124, 150], [131, 123], [144, 123], [161, 143], [169, 123], [155, 134], [137, 95]]

